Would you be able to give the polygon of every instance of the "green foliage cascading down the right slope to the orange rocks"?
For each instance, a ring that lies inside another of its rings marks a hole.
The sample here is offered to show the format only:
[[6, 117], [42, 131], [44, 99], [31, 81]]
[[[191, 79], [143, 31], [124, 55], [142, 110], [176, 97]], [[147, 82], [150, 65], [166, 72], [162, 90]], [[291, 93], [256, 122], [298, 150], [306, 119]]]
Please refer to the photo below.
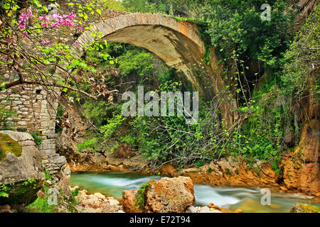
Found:
[[[306, 23], [294, 38], [289, 50], [281, 59], [284, 70], [269, 77], [253, 94], [256, 101], [250, 118], [241, 128], [233, 154], [249, 156], [270, 161], [272, 168], [279, 174], [279, 161], [282, 150], [292, 148], [299, 143], [304, 113], [302, 95], [316, 96], [317, 84], [312, 82], [314, 72], [312, 62], [319, 59], [319, 6], [311, 13]], [[317, 31], [318, 30], [318, 31]], [[305, 47], [308, 48], [305, 48]], [[319, 89], [319, 87], [318, 87]], [[306, 101], [305, 101], [306, 102]], [[293, 143], [285, 142], [286, 136], [294, 136]], [[238, 150], [242, 150], [238, 152]]]

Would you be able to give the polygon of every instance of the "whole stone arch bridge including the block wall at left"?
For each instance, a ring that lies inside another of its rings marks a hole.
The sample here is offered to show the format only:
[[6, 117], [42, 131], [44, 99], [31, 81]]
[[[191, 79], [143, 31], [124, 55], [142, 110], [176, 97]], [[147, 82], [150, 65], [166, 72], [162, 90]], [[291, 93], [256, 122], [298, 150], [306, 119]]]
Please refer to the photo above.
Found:
[[[198, 35], [196, 23], [177, 21], [175, 18], [149, 13], [132, 13], [109, 18], [95, 23], [90, 30], [82, 33], [77, 40], [80, 45], [74, 43], [70, 47], [78, 57], [86, 51], [82, 46], [97, 41], [91, 33], [97, 33], [103, 40], [109, 42], [129, 43], [148, 50], [159, 57], [169, 69], [176, 68], [192, 84], [193, 89], [208, 99], [213, 94], [220, 93], [224, 87], [213, 54], [211, 54], [213, 63], [205, 65], [211, 85], [209, 92], [205, 89], [208, 84], [204, 84], [201, 78], [196, 77], [197, 72], [194, 68], [201, 62], [206, 52], [205, 45]], [[55, 153], [55, 114], [58, 103], [50, 99], [48, 92], [36, 85], [11, 87], [0, 92], [0, 98], [5, 96], [13, 100], [11, 106], [18, 114], [9, 121], [15, 121], [20, 129], [42, 133], [43, 143], [40, 150], [43, 154], [43, 164], [47, 170], [55, 172], [55, 162], [61, 162], [59, 155]], [[225, 97], [225, 100], [221, 112], [223, 118], [232, 123], [233, 116], [230, 110], [233, 101], [227, 101], [228, 97]]]

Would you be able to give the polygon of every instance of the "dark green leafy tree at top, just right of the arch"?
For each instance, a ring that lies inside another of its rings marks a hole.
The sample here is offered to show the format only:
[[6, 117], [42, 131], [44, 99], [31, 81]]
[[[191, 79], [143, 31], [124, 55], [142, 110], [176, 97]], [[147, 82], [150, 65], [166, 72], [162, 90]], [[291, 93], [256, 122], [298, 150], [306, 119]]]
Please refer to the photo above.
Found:
[[287, 2], [268, 1], [272, 6], [271, 21], [262, 21], [260, 6], [265, 1], [210, 1], [204, 13], [209, 22], [208, 35], [212, 45], [223, 56], [235, 50], [240, 55], [277, 66], [277, 59], [289, 45], [289, 29], [294, 17]]

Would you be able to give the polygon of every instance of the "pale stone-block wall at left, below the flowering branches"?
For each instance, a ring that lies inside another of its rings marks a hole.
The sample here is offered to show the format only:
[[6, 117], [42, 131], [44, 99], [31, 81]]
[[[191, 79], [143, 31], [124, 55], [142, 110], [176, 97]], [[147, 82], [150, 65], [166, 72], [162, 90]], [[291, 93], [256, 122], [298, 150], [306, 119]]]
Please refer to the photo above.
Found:
[[[8, 103], [8, 98], [11, 100]], [[39, 133], [43, 139], [39, 150], [43, 168], [55, 175], [65, 164], [65, 157], [55, 152], [57, 134], [55, 133], [55, 116], [58, 102], [48, 96], [48, 91], [41, 86], [23, 84], [0, 92], [2, 104], [16, 111], [8, 120], [14, 123], [17, 131]]]

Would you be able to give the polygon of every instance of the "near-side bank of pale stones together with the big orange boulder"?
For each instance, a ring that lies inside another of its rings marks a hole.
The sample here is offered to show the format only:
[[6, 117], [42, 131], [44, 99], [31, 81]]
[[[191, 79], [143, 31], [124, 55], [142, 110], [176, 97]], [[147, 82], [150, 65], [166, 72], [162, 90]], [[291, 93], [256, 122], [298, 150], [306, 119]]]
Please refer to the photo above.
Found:
[[162, 178], [150, 180], [140, 189], [123, 192], [118, 201], [100, 193], [89, 194], [85, 189], [70, 187], [76, 192], [80, 213], [223, 213], [230, 212], [214, 204], [193, 206], [195, 196], [190, 177]]

